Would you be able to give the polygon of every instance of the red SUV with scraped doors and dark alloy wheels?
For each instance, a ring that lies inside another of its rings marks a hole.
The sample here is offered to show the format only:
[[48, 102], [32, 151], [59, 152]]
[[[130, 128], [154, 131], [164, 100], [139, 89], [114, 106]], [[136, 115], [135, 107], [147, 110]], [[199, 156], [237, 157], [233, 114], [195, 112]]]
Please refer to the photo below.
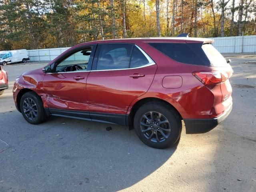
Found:
[[74, 46], [14, 83], [18, 111], [31, 124], [49, 115], [134, 128], [166, 148], [208, 132], [232, 109], [230, 64], [204, 38], [134, 38]]

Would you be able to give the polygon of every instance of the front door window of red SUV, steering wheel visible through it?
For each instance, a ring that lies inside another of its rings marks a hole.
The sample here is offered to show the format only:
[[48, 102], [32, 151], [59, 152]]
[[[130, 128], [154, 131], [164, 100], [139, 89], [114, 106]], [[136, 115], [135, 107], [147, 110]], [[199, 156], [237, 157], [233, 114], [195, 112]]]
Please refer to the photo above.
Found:
[[87, 47], [71, 54], [56, 65], [55, 72], [86, 71], [90, 57], [92, 57], [91, 52], [92, 47]]

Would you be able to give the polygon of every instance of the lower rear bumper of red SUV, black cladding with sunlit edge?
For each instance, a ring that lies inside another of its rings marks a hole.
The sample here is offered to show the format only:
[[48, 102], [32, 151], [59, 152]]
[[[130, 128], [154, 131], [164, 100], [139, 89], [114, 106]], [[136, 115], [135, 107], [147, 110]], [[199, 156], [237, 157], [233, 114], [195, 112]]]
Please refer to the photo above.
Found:
[[206, 133], [220, 124], [230, 114], [232, 103], [226, 111], [213, 119], [184, 119], [186, 134]]

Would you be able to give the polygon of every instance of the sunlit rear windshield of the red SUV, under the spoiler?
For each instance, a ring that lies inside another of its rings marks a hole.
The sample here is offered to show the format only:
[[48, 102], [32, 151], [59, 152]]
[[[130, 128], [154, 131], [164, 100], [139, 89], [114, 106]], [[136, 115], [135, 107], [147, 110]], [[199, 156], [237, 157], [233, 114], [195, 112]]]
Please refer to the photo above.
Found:
[[202, 49], [214, 67], [226, 67], [225, 58], [211, 44], [203, 44]]

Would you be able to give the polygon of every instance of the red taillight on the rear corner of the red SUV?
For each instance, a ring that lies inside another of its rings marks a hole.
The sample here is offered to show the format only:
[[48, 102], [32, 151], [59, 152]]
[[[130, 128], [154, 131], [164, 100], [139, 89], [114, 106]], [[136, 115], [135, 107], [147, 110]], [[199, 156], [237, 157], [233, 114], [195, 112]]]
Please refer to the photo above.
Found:
[[216, 85], [229, 78], [227, 72], [221, 71], [195, 71], [192, 74], [204, 85]]

